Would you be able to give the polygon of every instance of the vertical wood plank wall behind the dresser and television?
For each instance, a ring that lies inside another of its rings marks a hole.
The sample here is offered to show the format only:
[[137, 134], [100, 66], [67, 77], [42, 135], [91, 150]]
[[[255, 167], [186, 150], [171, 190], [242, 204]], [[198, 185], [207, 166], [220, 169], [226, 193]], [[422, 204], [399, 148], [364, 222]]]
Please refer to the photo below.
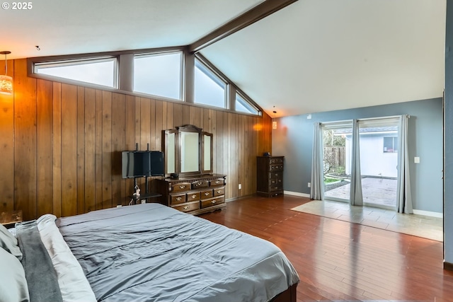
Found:
[[127, 204], [133, 181], [121, 178], [120, 151], [136, 142], [160, 151], [161, 130], [183, 124], [214, 134], [214, 173], [227, 175], [226, 199], [256, 192], [256, 156], [272, 146], [268, 115], [30, 78], [26, 59], [9, 60], [8, 75], [14, 94], [0, 95], [0, 212], [22, 209], [28, 220]]

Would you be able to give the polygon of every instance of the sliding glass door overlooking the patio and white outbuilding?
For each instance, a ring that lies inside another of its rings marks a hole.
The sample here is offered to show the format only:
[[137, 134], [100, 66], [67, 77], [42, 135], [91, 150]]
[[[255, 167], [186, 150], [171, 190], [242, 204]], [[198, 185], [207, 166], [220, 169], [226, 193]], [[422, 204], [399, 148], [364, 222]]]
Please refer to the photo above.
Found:
[[[395, 209], [399, 118], [358, 121], [363, 204]], [[321, 124], [324, 199], [350, 202], [352, 121]]]

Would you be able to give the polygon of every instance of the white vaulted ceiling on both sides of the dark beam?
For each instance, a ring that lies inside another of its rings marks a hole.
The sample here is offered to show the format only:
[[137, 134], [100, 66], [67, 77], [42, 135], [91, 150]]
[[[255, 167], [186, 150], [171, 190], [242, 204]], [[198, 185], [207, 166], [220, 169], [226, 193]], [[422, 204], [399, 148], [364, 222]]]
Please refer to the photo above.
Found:
[[[33, 1], [0, 10], [0, 51], [14, 59], [189, 45], [261, 2]], [[271, 117], [438, 98], [445, 11], [446, 0], [299, 0], [201, 53]]]

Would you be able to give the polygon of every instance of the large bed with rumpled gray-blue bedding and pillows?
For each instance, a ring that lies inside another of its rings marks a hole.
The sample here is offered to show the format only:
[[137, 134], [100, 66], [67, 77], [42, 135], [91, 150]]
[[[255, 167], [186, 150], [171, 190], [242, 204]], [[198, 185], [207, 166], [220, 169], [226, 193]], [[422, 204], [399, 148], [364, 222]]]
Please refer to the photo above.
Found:
[[0, 301], [296, 301], [273, 243], [161, 204], [47, 214], [0, 243]]

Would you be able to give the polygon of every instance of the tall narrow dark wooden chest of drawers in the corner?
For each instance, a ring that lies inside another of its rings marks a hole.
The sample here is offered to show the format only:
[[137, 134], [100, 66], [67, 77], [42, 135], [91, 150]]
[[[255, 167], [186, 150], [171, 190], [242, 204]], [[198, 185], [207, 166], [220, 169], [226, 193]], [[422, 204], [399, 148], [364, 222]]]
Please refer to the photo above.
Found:
[[283, 168], [285, 156], [257, 156], [256, 194], [274, 197], [283, 194]]

